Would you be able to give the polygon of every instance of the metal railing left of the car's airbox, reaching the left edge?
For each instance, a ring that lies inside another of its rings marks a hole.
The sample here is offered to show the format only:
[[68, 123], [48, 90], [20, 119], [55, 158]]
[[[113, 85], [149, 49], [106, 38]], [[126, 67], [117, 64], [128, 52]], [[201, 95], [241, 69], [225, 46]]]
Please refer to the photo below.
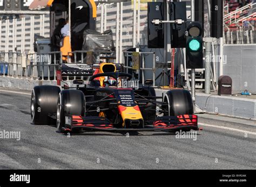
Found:
[[[86, 63], [87, 60], [100, 62], [116, 62], [114, 52], [109, 51], [75, 51], [70, 52], [67, 61], [71, 63]], [[0, 76], [26, 78], [31, 80], [56, 80], [56, 70], [64, 61], [61, 52], [0, 53]], [[84, 79], [83, 76], [63, 76], [66, 80]]]

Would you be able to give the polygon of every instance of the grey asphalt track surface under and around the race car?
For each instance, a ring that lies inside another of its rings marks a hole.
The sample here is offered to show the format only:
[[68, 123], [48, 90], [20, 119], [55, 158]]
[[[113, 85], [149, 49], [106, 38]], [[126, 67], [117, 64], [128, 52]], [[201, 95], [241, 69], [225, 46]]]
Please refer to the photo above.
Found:
[[0, 139], [0, 169], [255, 169], [255, 126], [199, 117], [211, 126], [197, 140], [175, 134], [85, 132], [67, 136], [48, 125], [33, 125], [30, 92], [1, 91], [0, 131], [20, 131], [21, 140]]

